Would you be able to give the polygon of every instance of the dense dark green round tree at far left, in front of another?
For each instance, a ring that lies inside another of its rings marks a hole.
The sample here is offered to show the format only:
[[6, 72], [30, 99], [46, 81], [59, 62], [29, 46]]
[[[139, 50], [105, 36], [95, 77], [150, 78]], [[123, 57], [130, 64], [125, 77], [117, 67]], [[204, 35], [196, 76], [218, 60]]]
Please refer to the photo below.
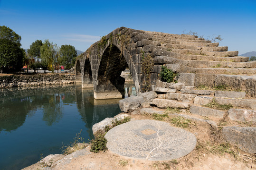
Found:
[[0, 39], [0, 71], [20, 70], [23, 65], [23, 52], [24, 50], [19, 48], [16, 42]]

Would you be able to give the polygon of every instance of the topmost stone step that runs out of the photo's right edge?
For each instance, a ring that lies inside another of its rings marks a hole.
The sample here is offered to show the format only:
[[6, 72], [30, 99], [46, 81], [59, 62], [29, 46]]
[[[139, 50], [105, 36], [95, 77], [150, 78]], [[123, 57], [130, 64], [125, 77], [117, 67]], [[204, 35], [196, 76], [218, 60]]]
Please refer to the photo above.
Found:
[[182, 60], [166, 56], [154, 57], [155, 64], [179, 63], [191, 68], [256, 68], [256, 61], [250, 62], [227, 62], [227, 61], [204, 61], [204, 60]]

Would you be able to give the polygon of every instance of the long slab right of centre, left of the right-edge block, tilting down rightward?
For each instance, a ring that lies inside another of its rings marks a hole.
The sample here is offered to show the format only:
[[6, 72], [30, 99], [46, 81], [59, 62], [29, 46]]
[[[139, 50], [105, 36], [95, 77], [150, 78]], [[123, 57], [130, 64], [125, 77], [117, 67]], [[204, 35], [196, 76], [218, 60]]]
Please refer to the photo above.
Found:
[[213, 116], [216, 118], [223, 118], [225, 111], [191, 105], [190, 113], [197, 114], [200, 116]]

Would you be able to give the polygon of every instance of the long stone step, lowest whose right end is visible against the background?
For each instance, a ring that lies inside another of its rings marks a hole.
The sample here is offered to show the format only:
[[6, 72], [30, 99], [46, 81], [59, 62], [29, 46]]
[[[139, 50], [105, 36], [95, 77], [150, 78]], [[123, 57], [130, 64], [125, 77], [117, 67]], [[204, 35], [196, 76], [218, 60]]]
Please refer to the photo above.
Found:
[[187, 55], [182, 54], [178, 57], [182, 60], [204, 60], [204, 61], [228, 61], [228, 62], [247, 62], [249, 57], [215, 57], [215, 56], [203, 56], [203, 55]]

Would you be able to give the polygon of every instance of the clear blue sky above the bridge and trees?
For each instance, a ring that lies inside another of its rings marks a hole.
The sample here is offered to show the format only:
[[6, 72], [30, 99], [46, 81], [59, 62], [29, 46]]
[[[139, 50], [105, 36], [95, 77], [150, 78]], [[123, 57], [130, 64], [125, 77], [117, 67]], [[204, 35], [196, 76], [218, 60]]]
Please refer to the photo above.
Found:
[[117, 27], [223, 39], [239, 54], [256, 51], [256, 0], [0, 0], [0, 26], [22, 48], [49, 39], [86, 49]]

